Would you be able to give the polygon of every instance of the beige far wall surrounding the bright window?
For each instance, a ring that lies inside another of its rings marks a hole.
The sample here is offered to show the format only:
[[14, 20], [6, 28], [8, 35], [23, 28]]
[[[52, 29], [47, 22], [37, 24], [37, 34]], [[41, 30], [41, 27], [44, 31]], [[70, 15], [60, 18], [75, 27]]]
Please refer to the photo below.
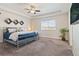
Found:
[[[41, 20], [44, 20], [46, 18], [49, 18], [50, 20], [56, 20], [57, 26], [56, 30], [51, 31], [42, 31], [40, 28], [40, 22]], [[57, 38], [59, 39], [60, 32], [59, 30], [63, 27], [68, 28], [68, 13], [59, 14], [55, 16], [49, 16], [49, 17], [40, 17], [40, 18], [33, 18], [31, 19], [32, 24], [32, 30], [38, 31], [40, 37], [48, 37], [48, 38]]]

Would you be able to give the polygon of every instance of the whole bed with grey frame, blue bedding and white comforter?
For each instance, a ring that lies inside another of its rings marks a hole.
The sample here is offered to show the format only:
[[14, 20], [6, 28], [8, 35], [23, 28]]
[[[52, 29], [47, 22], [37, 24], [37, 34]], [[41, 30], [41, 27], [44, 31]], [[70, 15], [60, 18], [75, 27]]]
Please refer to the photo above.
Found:
[[22, 46], [34, 40], [38, 40], [38, 32], [23, 31], [21, 28], [7, 27], [3, 33], [4, 42], [13, 44], [17, 47]]

